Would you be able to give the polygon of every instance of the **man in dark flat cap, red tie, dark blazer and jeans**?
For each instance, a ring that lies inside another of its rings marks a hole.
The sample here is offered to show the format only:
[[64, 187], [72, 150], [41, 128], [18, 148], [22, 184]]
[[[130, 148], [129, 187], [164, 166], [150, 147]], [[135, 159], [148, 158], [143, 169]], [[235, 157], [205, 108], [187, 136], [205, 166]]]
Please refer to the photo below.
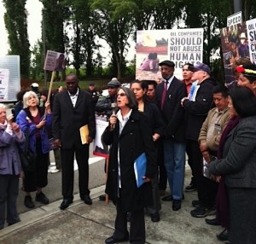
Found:
[[172, 200], [172, 210], [181, 208], [185, 167], [185, 119], [180, 100], [186, 96], [185, 84], [177, 79], [172, 61], [160, 62], [160, 71], [164, 82], [156, 87], [156, 99], [160, 107], [165, 132], [162, 138], [166, 174], [171, 195], [162, 200]]

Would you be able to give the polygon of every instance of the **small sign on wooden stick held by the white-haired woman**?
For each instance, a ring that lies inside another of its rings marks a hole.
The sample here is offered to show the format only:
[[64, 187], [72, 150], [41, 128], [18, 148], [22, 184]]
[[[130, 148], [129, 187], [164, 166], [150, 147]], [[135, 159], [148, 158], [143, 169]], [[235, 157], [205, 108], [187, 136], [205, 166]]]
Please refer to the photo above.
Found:
[[64, 71], [66, 67], [67, 55], [48, 50], [44, 61], [44, 70]]

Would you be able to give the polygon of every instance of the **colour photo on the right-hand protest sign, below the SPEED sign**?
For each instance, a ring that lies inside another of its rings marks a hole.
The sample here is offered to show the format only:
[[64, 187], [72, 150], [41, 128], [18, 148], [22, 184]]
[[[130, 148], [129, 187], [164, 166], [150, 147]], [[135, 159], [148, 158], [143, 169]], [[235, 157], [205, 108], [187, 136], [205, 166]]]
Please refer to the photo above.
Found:
[[234, 62], [241, 58], [250, 58], [246, 22], [223, 28], [221, 30], [221, 45], [225, 82], [230, 84], [236, 80], [232, 73]]

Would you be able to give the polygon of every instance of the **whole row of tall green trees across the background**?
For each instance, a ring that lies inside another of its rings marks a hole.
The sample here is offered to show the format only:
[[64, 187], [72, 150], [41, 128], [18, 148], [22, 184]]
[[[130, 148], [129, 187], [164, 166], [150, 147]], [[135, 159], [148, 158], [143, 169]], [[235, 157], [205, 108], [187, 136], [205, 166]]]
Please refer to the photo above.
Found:
[[[222, 73], [221, 61], [212, 61], [220, 47], [219, 29], [226, 26], [226, 17], [233, 14], [230, 0], [39, 0], [44, 5], [45, 50], [73, 56], [66, 73], [79, 78], [124, 77], [135, 73], [135, 60], [127, 64], [129, 39], [143, 29], [172, 29], [182, 20], [185, 27], [204, 28], [204, 58], [216, 73]], [[242, 1], [244, 20], [256, 17], [254, 0]], [[3, 0], [5, 26], [9, 33], [9, 54], [20, 55], [22, 77], [44, 80], [44, 45], [32, 47], [32, 61], [27, 39], [26, 0]], [[67, 30], [73, 36], [67, 36]], [[99, 38], [110, 47], [111, 63], [105, 67]], [[29, 72], [29, 68], [31, 70]], [[105, 67], [105, 68], [104, 68]], [[50, 73], [48, 73], [50, 78]], [[221, 79], [221, 76], [220, 78]]]

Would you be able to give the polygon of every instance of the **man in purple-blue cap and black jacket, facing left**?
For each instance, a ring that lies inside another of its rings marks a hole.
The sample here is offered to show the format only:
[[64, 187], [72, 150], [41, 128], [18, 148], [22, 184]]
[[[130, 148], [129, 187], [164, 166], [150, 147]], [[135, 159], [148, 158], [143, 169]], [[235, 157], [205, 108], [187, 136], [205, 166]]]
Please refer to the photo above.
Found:
[[206, 217], [214, 211], [215, 200], [205, 193], [213, 191], [215, 184], [202, 175], [202, 154], [198, 143], [201, 126], [207, 118], [208, 111], [213, 107], [212, 90], [217, 82], [211, 78], [211, 69], [205, 63], [197, 63], [191, 67], [192, 81], [197, 80], [191, 98], [183, 97], [181, 104], [187, 113], [187, 154], [190, 159], [191, 169], [195, 177], [197, 195], [199, 200], [193, 200], [195, 210], [190, 214], [195, 218]]

